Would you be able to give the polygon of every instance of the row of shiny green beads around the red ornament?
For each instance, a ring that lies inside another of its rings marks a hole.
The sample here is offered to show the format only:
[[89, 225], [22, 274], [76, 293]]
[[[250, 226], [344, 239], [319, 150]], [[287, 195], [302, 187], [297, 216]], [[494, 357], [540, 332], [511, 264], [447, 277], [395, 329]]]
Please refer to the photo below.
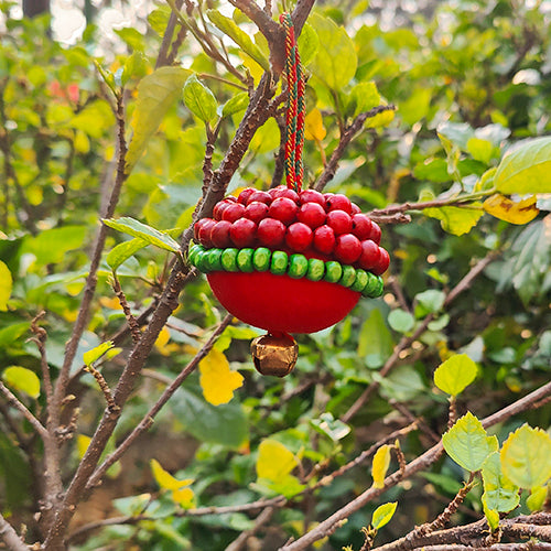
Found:
[[334, 260], [324, 262], [304, 255], [288, 255], [282, 250], [271, 251], [266, 247], [257, 249], [205, 249], [201, 245], [190, 248], [190, 261], [202, 272], [264, 272], [287, 274], [293, 279], [307, 278], [311, 281], [328, 281], [360, 292], [375, 299], [382, 294], [382, 279], [370, 272], [343, 266]]

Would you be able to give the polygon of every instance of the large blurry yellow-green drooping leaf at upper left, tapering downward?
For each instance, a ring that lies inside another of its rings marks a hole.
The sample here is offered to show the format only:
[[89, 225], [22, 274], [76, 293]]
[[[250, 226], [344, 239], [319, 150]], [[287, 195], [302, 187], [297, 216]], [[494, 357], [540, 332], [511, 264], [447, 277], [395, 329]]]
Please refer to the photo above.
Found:
[[159, 128], [166, 111], [176, 102], [191, 71], [161, 67], [143, 77], [138, 85], [136, 108], [130, 123], [133, 136], [128, 148], [125, 171], [131, 172], [149, 139]]

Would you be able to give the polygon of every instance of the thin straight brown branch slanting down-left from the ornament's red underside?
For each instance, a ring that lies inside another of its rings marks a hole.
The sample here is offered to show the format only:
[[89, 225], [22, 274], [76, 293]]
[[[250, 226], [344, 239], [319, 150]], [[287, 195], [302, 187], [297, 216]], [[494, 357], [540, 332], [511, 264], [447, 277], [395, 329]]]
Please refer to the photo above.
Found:
[[210, 352], [218, 337], [224, 333], [224, 329], [231, 323], [231, 314], [226, 315], [226, 317], [218, 324], [214, 333], [210, 335], [208, 341], [203, 345], [201, 350], [193, 357], [193, 359], [185, 366], [185, 368], [180, 371], [180, 375], [164, 389], [159, 400], [148, 411], [148, 413], [132, 430], [132, 432], [122, 441], [121, 444], [118, 445], [118, 447], [111, 454], [109, 454], [105, 458], [104, 463], [101, 463], [101, 465], [96, 468], [94, 474], [90, 476], [88, 484], [86, 485], [88, 489], [99, 484], [106, 471], [127, 452], [127, 450], [132, 445], [132, 443], [142, 432], [147, 431], [153, 424], [155, 415], [170, 400], [172, 395], [174, 395], [174, 392], [182, 386], [182, 382], [195, 370], [199, 361]]

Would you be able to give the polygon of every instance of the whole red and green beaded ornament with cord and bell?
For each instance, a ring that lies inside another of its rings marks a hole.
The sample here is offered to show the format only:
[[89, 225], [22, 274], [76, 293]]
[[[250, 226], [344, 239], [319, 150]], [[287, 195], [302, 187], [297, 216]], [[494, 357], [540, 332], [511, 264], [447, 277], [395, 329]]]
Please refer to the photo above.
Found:
[[283, 377], [298, 357], [289, 334], [329, 327], [360, 296], [380, 296], [389, 255], [379, 246], [379, 226], [348, 197], [302, 190], [304, 78], [291, 17], [280, 21], [287, 34], [287, 185], [247, 187], [218, 202], [213, 218], [195, 224], [190, 261], [228, 312], [268, 331], [252, 342], [255, 367]]

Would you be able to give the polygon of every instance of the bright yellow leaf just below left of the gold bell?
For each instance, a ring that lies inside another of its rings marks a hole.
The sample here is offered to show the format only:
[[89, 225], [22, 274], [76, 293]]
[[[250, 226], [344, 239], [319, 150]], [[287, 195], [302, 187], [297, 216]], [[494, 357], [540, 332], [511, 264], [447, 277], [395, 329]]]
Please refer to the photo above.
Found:
[[241, 374], [229, 368], [226, 356], [214, 348], [199, 361], [199, 372], [203, 396], [213, 406], [228, 403], [244, 380]]

